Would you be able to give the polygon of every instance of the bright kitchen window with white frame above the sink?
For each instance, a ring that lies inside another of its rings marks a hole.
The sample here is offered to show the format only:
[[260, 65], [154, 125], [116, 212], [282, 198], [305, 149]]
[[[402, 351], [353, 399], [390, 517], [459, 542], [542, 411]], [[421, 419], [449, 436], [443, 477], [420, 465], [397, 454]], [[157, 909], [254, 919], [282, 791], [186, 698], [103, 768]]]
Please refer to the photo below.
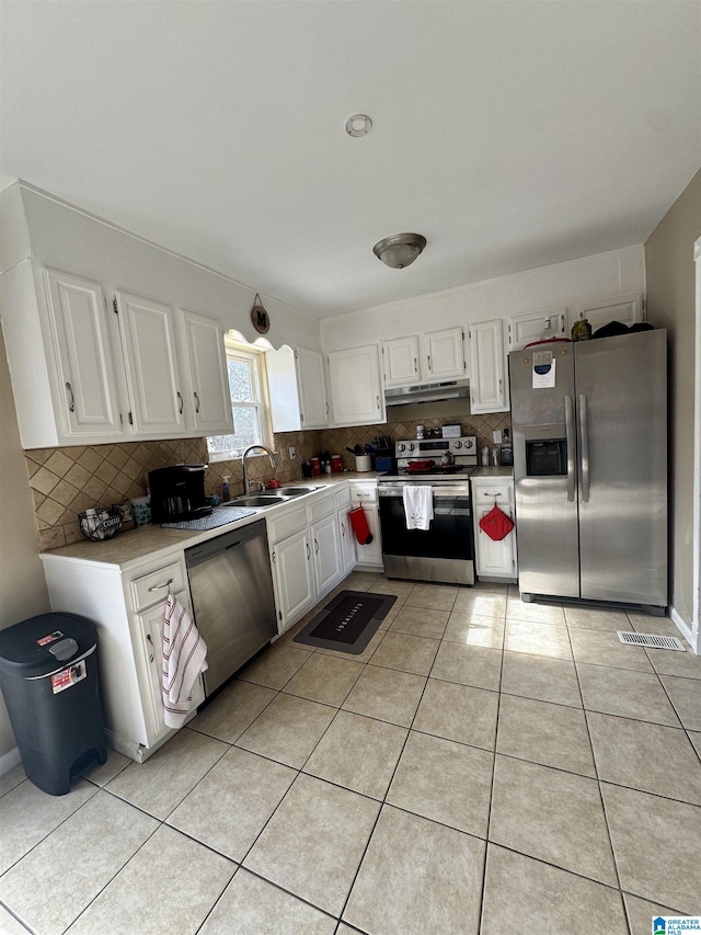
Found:
[[273, 447], [268, 417], [265, 355], [225, 338], [233, 413], [232, 435], [207, 438], [209, 460], [240, 458], [250, 445]]

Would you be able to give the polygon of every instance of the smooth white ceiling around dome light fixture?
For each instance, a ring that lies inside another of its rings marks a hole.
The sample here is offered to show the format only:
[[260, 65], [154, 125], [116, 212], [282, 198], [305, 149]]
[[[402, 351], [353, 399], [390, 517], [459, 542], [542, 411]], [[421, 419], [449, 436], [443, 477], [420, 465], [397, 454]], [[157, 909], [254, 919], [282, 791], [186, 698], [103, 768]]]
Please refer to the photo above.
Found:
[[641, 243], [701, 164], [698, 0], [0, 12], [3, 186], [319, 317]]

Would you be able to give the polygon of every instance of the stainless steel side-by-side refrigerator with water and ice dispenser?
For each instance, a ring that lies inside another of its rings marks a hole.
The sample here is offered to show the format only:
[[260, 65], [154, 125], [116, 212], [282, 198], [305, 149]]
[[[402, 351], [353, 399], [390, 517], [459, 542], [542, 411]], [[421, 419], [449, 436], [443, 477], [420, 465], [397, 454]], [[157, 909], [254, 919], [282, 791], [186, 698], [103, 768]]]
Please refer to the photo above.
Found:
[[518, 583], [667, 604], [667, 332], [509, 354]]

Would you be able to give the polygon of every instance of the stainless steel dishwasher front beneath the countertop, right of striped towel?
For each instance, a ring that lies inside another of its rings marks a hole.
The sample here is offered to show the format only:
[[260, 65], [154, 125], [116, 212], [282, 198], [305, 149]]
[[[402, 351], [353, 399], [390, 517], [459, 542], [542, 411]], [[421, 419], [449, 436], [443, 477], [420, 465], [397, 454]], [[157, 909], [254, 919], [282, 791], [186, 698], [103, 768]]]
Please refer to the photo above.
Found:
[[211, 695], [277, 635], [265, 520], [186, 549], [185, 563]]

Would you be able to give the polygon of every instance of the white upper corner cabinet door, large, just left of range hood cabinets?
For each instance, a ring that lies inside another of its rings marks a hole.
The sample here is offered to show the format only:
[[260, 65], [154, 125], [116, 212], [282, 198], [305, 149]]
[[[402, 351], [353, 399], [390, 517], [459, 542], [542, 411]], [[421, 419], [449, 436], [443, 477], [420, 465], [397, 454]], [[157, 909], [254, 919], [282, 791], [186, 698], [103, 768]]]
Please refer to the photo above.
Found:
[[377, 344], [329, 354], [334, 425], [374, 425], [384, 421]]

